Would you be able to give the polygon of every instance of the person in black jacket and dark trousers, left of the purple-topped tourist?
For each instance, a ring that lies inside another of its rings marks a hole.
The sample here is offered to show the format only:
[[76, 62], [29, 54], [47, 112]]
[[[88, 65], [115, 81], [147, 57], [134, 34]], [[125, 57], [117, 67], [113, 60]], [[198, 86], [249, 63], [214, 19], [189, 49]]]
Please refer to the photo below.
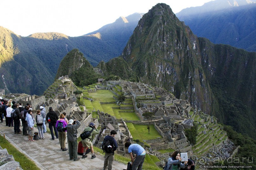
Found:
[[[53, 111], [52, 107], [49, 107], [49, 112], [46, 115], [46, 121], [49, 124], [49, 129], [51, 131], [51, 136], [52, 136], [52, 140], [54, 140], [54, 133], [56, 138], [58, 139], [58, 132], [57, 132], [57, 128], [56, 128], [56, 122], [58, 120], [58, 116], [57, 113]], [[54, 129], [54, 133], [53, 133], [53, 129]]]

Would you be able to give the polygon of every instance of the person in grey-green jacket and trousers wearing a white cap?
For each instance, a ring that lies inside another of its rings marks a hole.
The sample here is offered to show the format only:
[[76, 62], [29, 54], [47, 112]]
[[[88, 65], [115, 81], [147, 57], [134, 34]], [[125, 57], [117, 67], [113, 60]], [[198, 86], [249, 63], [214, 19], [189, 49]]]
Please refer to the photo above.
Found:
[[74, 161], [80, 160], [77, 158], [77, 132], [76, 130], [81, 126], [81, 123], [78, 120], [69, 120], [67, 125], [67, 135], [69, 142], [69, 160], [74, 159]]

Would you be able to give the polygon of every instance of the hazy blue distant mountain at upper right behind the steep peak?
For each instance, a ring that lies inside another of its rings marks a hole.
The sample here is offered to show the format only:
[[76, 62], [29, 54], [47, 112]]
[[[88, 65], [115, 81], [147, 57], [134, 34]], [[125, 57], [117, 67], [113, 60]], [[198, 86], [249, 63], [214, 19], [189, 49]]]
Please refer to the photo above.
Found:
[[[256, 1], [233, 0], [234, 6], [228, 2], [211, 1], [201, 7], [183, 9], [176, 16], [198, 37], [256, 52]], [[223, 3], [226, 5], [219, 8]]]

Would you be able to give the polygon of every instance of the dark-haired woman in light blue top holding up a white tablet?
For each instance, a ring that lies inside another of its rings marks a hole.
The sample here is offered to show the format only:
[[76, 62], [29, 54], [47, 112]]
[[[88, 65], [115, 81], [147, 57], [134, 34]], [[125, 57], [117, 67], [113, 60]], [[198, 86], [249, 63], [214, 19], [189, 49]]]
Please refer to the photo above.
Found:
[[181, 162], [181, 154], [179, 151], [174, 151], [173, 155], [168, 159], [167, 162], [167, 169], [173, 170], [173, 169], [178, 169], [180, 168], [185, 168], [187, 167], [187, 161], [184, 163]]

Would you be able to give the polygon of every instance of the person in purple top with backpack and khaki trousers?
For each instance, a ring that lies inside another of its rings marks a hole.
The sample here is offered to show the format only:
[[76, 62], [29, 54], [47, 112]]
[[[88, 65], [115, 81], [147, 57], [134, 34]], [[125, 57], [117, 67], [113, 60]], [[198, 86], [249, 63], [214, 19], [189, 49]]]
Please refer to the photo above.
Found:
[[[64, 114], [61, 114], [60, 118], [57, 120], [56, 128], [58, 127], [59, 123], [62, 124], [62, 128], [63, 128], [62, 130], [58, 131], [59, 141], [60, 141], [62, 151], [66, 151], [66, 150], [68, 150], [66, 148], [66, 136], [67, 136], [66, 126], [67, 126], [67, 123], [64, 120]], [[58, 130], [58, 128], [57, 128], [57, 130]]]

